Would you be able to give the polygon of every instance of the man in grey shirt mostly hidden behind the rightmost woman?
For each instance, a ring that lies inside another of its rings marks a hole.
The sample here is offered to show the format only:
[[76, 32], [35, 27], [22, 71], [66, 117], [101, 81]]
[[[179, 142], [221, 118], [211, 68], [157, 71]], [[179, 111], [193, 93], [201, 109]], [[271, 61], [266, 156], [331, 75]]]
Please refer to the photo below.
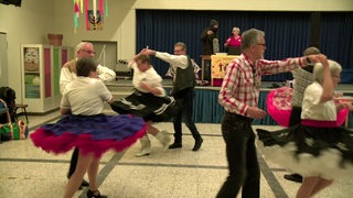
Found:
[[[319, 48], [317, 47], [308, 47], [303, 55], [309, 56], [312, 54], [320, 54]], [[308, 66], [303, 68], [297, 68], [292, 70], [293, 78], [296, 80], [296, 84], [293, 86], [293, 94], [291, 98], [291, 114], [289, 119], [289, 127], [293, 127], [296, 124], [299, 124], [301, 119], [300, 119], [300, 113], [301, 113], [301, 103], [304, 95], [306, 88], [313, 82], [313, 64], [309, 64]], [[288, 180], [301, 183], [302, 182], [302, 176], [299, 174], [286, 174], [284, 176]]]

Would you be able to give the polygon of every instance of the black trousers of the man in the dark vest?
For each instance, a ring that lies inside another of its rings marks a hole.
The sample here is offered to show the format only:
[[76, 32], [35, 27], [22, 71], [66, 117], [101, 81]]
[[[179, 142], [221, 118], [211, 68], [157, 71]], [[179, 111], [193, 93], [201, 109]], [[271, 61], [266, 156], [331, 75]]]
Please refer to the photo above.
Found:
[[174, 98], [178, 103], [182, 103], [180, 110], [175, 114], [173, 119], [174, 125], [174, 142], [181, 143], [182, 142], [182, 131], [181, 131], [181, 122], [182, 120], [185, 122], [188, 129], [191, 131], [192, 136], [195, 140], [201, 139], [201, 135], [196, 129], [196, 125], [192, 119], [193, 113], [193, 101], [194, 101], [194, 88], [188, 88], [181, 90]]

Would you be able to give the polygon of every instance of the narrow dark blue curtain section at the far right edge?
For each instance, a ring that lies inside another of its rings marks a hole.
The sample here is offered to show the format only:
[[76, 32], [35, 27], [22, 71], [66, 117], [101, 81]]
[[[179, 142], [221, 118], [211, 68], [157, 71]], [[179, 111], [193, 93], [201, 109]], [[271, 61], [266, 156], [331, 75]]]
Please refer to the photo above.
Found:
[[321, 13], [320, 50], [343, 67], [342, 82], [353, 82], [353, 12]]

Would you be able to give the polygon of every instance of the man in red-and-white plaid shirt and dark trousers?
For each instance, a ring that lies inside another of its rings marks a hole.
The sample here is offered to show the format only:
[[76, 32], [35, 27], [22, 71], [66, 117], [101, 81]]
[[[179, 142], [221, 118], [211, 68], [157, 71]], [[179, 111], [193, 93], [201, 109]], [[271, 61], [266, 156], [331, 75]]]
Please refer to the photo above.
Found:
[[218, 95], [224, 107], [222, 134], [226, 144], [229, 175], [221, 187], [217, 198], [259, 197], [260, 170], [255, 146], [253, 119], [263, 119], [266, 112], [258, 108], [263, 75], [284, 73], [315, 62], [318, 55], [266, 61], [265, 32], [250, 29], [243, 34], [242, 55], [226, 68]]

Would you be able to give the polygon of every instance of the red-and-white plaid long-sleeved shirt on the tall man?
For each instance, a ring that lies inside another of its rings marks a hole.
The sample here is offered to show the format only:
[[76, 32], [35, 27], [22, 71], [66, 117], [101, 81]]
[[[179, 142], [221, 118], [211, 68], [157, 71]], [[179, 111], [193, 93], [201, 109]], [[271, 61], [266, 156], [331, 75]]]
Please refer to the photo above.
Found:
[[218, 102], [225, 111], [246, 116], [248, 107], [257, 107], [263, 75], [289, 72], [306, 64], [306, 57], [284, 61], [259, 59], [253, 64], [245, 54], [242, 54], [226, 68]]

